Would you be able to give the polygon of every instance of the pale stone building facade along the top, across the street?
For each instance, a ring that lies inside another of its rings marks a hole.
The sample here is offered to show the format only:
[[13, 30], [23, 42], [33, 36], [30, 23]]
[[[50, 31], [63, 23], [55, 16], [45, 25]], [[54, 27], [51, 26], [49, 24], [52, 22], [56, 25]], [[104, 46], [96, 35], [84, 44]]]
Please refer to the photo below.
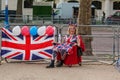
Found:
[[[5, 1], [0, 0], [0, 10], [5, 9]], [[25, 1], [25, 0], [24, 0]], [[23, 4], [24, 4], [23, 1]], [[34, 0], [34, 2], [43, 2], [44, 0]], [[66, 2], [68, 0], [56, 0], [55, 2]], [[79, 0], [78, 0], [79, 1]], [[92, 4], [96, 7], [96, 16], [102, 16], [103, 11], [106, 17], [112, 15], [115, 11], [120, 10], [120, 0], [92, 0]], [[8, 0], [9, 10], [17, 9], [17, 0]], [[32, 8], [24, 8], [23, 15], [32, 15]]]

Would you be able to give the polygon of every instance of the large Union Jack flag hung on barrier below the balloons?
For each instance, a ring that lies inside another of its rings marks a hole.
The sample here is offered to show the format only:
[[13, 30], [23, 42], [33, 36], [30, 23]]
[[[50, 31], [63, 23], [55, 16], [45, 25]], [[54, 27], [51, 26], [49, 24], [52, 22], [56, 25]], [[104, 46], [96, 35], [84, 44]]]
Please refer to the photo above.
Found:
[[2, 28], [1, 56], [18, 60], [51, 58], [53, 36], [15, 36]]

